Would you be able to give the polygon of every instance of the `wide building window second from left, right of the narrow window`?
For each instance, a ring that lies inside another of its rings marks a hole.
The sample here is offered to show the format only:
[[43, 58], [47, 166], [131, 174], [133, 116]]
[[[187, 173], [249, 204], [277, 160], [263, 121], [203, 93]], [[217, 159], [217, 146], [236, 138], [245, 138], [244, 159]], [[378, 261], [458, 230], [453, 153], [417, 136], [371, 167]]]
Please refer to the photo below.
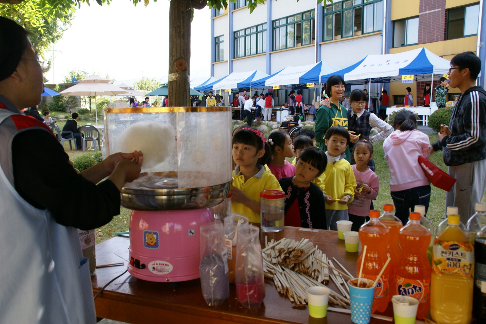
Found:
[[264, 53], [266, 49], [267, 24], [242, 29], [234, 33], [235, 58]]

